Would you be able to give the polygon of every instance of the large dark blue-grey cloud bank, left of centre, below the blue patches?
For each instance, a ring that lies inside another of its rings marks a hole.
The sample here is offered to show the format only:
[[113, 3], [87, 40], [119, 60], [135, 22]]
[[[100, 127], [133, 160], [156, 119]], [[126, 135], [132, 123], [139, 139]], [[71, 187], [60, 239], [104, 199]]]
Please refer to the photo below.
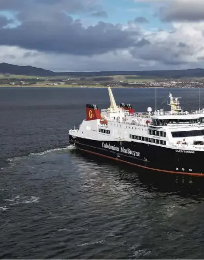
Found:
[[[21, 17], [21, 16], [19, 16]], [[15, 28], [0, 29], [0, 45], [28, 50], [74, 55], [103, 54], [135, 44], [137, 32], [122, 30], [121, 25], [99, 22], [85, 28], [70, 16], [53, 13], [49, 21], [25, 19]]]

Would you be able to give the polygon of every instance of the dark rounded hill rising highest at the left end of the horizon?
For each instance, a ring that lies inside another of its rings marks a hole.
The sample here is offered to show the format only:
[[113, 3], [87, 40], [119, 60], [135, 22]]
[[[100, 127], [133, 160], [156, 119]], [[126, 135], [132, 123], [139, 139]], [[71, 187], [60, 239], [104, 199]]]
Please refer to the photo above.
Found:
[[35, 68], [32, 66], [17, 66], [8, 63], [0, 63], [0, 74], [15, 74], [28, 76], [54, 76], [55, 73], [51, 70]]

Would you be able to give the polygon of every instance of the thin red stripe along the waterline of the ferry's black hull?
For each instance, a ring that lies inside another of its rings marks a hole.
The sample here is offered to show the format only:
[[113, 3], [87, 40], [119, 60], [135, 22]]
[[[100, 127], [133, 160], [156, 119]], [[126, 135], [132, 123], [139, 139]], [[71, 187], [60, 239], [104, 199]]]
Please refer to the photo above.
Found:
[[89, 150], [85, 150], [85, 149], [81, 149], [81, 148], [78, 148], [78, 149], [81, 150], [81, 151], [93, 153], [93, 154], [96, 154], [96, 155], [99, 155], [99, 156], [102, 156], [102, 157], [114, 159], [115, 161], [119, 161], [119, 162], [126, 163], [126, 164], [130, 164], [130, 165], [134, 165], [134, 166], [141, 167], [141, 168], [148, 169], [148, 170], [159, 171], [159, 172], [167, 172], [167, 173], [174, 173], [174, 174], [182, 174], [182, 175], [190, 175], [190, 176], [204, 177], [204, 174], [201, 174], [201, 173], [189, 173], [189, 172], [160, 170], [160, 169], [155, 169], [155, 168], [146, 167], [146, 166], [143, 166], [143, 165], [138, 165], [138, 164], [129, 163], [129, 162], [126, 162], [126, 161], [121, 160], [121, 159], [113, 158], [113, 157], [111, 157], [111, 156], [107, 156], [107, 155], [104, 155], [104, 154], [92, 152], [92, 151], [89, 151]]

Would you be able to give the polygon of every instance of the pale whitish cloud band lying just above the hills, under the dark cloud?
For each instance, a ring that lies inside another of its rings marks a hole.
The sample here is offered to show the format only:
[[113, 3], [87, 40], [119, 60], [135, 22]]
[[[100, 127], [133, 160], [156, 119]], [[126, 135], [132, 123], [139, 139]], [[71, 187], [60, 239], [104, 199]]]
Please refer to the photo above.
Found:
[[[152, 38], [152, 37], [150, 37]], [[182, 35], [181, 35], [182, 38]], [[150, 42], [154, 42], [151, 41]], [[169, 42], [169, 38], [167, 40]], [[195, 45], [191, 42], [191, 48], [183, 52], [179, 56], [179, 49], [177, 49], [177, 44], [174, 41], [170, 41], [171, 44], [165, 49], [164, 44], [158, 44], [155, 42], [153, 45], [145, 45], [141, 48], [134, 48], [137, 53], [134, 56], [127, 55], [126, 52], [115, 51], [104, 55], [94, 55], [91, 57], [87, 56], [73, 56], [66, 54], [50, 54], [31, 51], [31, 55], [27, 53], [28, 51], [17, 48], [17, 47], [0, 47], [0, 62], [6, 62], [16, 65], [31, 65], [35, 67], [50, 69], [54, 71], [132, 71], [132, 70], [164, 70], [164, 69], [189, 69], [203, 67], [203, 52], [198, 54], [195, 51]], [[179, 42], [179, 41], [177, 41]], [[174, 43], [174, 44], [173, 44]], [[158, 48], [156, 47], [158, 45]], [[170, 46], [172, 46], [170, 48]], [[201, 47], [202, 45], [199, 44]], [[176, 48], [175, 48], [176, 47]], [[194, 47], [194, 48], [193, 48]], [[198, 46], [197, 46], [198, 47]], [[196, 47], [196, 49], [197, 49]], [[152, 48], [156, 51], [156, 60], [151, 58]], [[169, 48], [169, 51], [167, 49]], [[159, 52], [159, 49], [161, 52]], [[30, 51], [29, 51], [30, 52]], [[5, 56], [5, 53], [9, 53], [13, 56]], [[146, 55], [145, 60], [141, 60], [139, 57]], [[190, 56], [192, 56], [192, 59]], [[35, 54], [35, 55], [33, 55]], [[172, 58], [171, 58], [172, 54]], [[15, 58], [14, 58], [15, 56]], [[149, 56], [149, 58], [148, 58]], [[164, 57], [163, 57], [164, 56]], [[196, 57], [195, 57], [196, 56]], [[54, 62], [53, 62], [54, 61]]]

